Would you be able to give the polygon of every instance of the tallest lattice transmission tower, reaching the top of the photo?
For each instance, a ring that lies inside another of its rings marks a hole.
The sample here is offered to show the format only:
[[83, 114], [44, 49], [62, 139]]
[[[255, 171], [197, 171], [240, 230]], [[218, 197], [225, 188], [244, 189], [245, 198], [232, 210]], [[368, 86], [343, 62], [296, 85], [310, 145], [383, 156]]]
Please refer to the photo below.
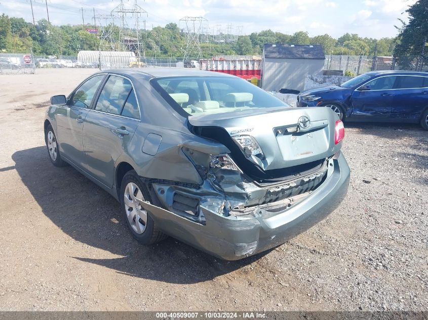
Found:
[[[129, 0], [128, 0], [129, 2]], [[144, 52], [143, 43], [141, 41], [141, 26], [140, 17], [147, 11], [138, 6], [137, 0], [131, 8], [124, 4], [121, 0], [119, 6], [111, 11], [112, 15], [117, 15], [120, 19], [120, 34], [119, 48], [121, 51], [132, 51], [137, 57], [141, 57], [141, 52]], [[146, 28], [146, 22], [143, 21], [143, 29]]]

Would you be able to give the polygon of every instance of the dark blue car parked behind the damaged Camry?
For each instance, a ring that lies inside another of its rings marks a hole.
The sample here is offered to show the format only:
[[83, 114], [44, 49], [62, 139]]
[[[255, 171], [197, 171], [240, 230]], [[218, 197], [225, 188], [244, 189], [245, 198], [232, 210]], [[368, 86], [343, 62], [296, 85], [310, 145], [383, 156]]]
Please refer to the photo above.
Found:
[[428, 73], [373, 71], [306, 90], [298, 107], [329, 107], [346, 121], [420, 123], [428, 130]]

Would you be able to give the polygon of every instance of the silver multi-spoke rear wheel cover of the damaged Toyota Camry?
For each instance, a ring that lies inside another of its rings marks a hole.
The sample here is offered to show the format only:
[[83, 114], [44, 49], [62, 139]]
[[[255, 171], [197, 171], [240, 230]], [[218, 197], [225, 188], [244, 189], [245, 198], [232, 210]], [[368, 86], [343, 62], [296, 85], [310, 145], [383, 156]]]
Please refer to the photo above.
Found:
[[126, 215], [132, 229], [141, 235], [146, 230], [147, 211], [141, 207], [137, 199], [144, 200], [143, 194], [134, 182], [129, 182], [124, 194]]

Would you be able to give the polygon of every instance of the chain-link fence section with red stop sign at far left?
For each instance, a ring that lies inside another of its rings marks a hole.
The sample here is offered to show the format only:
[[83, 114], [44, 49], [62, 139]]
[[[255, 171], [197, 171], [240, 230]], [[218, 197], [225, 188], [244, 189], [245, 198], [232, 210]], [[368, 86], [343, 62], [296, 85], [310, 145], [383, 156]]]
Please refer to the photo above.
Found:
[[0, 74], [19, 73], [35, 73], [32, 53], [0, 54]]

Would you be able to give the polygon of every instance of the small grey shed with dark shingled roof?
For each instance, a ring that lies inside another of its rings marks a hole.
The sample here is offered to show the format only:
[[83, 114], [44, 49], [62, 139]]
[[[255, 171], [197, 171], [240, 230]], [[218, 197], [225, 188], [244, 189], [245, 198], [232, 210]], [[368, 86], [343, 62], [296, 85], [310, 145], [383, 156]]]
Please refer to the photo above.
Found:
[[321, 74], [325, 59], [321, 45], [265, 44], [261, 86], [268, 91], [282, 88], [302, 91], [306, 75]]

